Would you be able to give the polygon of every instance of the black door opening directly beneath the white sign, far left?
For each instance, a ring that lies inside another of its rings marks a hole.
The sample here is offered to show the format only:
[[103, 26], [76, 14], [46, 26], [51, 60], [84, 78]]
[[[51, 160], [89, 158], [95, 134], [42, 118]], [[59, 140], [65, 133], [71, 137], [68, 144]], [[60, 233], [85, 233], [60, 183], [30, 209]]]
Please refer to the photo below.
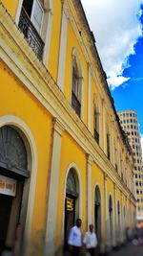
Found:
[[0, 194], [0, 254], [7, 238], [12, 197]]

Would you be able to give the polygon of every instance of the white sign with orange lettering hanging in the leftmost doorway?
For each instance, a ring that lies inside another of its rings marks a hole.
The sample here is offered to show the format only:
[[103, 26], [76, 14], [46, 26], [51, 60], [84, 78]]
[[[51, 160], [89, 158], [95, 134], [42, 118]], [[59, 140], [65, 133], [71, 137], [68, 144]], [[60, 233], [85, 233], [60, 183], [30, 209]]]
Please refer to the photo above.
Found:
[[0, 175], [0, 194], [15, 197], [16, 184], [15, 179]]

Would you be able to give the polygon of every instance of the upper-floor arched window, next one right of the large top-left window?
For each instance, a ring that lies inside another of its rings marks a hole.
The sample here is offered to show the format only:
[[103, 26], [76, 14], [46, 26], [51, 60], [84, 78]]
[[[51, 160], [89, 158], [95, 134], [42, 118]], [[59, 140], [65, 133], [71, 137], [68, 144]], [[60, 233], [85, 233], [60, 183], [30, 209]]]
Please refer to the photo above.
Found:
[[73, 49], [72, 52], [72, 108], [76, 114], [81, 117], [82, 98], [83, 98], [83, 76], [78, 52]]

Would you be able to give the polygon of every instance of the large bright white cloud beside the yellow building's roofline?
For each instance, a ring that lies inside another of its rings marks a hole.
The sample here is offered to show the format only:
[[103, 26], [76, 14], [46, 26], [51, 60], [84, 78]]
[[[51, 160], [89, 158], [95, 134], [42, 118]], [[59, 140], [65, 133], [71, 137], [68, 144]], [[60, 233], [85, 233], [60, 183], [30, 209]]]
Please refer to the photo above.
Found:
[[141, 3], [143, 0], [82, 0], [112, 88], [129, 80], [122, 73], [142, 34], [138, 20]]

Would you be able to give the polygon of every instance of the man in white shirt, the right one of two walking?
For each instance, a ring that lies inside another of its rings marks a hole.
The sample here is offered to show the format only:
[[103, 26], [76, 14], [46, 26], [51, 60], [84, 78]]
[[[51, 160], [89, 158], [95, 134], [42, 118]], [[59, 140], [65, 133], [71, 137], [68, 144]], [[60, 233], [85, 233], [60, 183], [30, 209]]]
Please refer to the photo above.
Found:
[[95, 255], [95, 247], [97, 245], [96, 234], [93, 231], [93, 224], [89, 225], [89, 231], [86, 232], [84, 236], [83, 243], [86, 245], [87, 251], [91, 254], [91, 256]]

